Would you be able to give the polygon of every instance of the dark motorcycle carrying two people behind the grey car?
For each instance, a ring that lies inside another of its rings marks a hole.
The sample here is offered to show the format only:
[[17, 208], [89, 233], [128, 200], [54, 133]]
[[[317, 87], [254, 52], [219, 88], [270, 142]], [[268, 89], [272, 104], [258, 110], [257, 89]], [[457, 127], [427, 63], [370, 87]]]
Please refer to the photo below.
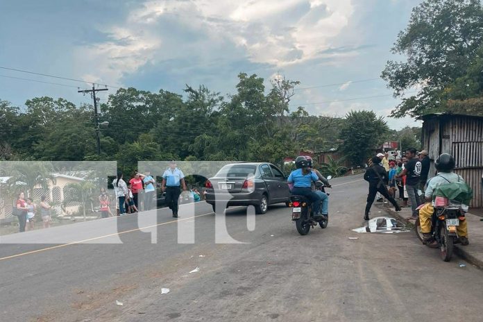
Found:
[[[328, 176], [330, 180], [332, 176]], [[316, 189], [325, 192], [325, 185], [321, 181], [315, 183]], [[327, 194], [328, 196], [330, 194]], [[295, 221], [295, 226], [300, 235], [307, 235], [310, 228], [319, 225], [321, 228], [327, 228], [328, 219], [321, 219], [316, 221], [314, 219], [314, 211], [312, 210], [312, 203], [305, 196], [290, 196], [289, 207], [292, 208], [292, 221]]]

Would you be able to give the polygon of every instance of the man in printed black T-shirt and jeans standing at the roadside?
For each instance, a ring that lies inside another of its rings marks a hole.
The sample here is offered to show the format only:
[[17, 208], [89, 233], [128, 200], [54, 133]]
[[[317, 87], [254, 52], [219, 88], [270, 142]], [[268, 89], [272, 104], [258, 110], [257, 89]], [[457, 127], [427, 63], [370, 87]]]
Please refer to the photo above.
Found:
[[419, 182], [421, 181], [421, 168], [422, 164], [416, 155], [416, 149], [411, 148], [406, 151], [407, 164], [405, 169], [396, 176], [400, 178], [406, 176], [406, 190], [409, 201], [411, 201], [412, 218], [416, 219], [418, 217], [418, 212], [416, 208], [421, 205], [421, 198], [419, 198]]

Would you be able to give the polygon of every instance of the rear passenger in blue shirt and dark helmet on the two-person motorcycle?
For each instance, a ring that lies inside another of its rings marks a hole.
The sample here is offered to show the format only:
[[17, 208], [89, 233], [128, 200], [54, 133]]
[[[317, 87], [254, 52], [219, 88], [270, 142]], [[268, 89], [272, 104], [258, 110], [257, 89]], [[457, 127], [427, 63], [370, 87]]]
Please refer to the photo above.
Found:
[[326, 216], [319, 214], [322, 199], [319, 194], [316, 194], [316, 192], [313, 192], [310, 188], [312, 182], [316, 182], [319, 178], [310, 170], [309, 162], [303, 155], [300, 155], [295, 159], [295, 166], [297, 169], [291, 171], [290, 176], [287, 179], [287, 183], [294, 185], [291, 189], [291, 194], [305, 196], [312, 202], [312, 207], [314, 207], [314, 220], [326, 220]]

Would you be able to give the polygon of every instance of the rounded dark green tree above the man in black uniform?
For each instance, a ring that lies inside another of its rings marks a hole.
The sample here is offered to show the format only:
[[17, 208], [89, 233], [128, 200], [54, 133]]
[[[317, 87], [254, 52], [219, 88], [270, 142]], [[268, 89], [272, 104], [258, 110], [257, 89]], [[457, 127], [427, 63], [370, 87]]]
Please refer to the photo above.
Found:
[[373, 111], [350, 111], [341, 127], [341, 151], [354, 165], [362, 165], [376, 146], [386, 141], [389, 128]]

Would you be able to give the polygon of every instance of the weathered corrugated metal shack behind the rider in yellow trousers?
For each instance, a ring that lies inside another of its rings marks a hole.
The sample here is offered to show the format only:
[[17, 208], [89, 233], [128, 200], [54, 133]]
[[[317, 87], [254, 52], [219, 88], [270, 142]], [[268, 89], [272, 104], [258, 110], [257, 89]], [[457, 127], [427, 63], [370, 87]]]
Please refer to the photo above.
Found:
[[455, 114], [425, 115], [423, 149], [431, 159], [430, 178], [434, 176], [434, 160], [450, 153], [456, 160], [455, 172], [473, 188], [471, 207], [483, 207], [483, 117]]

